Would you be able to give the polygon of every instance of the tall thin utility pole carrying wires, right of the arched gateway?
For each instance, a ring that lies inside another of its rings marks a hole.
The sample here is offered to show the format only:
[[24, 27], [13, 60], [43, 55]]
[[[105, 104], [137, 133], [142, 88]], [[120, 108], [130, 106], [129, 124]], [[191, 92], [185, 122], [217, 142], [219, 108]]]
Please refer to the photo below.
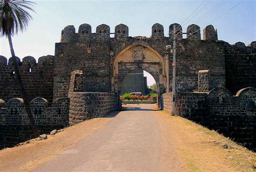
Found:
[[176, 100], [176, 25], [173, 25], [173, 63], [172, 63], [172, 115], [175, 110]]

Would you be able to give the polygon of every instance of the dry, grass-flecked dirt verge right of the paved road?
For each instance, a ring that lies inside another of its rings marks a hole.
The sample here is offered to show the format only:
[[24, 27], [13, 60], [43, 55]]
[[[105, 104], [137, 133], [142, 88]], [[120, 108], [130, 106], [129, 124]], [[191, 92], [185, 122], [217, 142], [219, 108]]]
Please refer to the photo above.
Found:
[[158, 115], [190, 171], [256, 171], [256, 154], [250, 150], [190, 120], [165, 111]]

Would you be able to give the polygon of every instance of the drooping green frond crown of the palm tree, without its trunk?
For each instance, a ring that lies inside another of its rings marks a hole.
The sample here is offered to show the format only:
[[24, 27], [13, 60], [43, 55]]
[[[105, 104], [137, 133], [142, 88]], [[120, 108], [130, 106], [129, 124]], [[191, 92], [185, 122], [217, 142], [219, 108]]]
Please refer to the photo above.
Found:
[[26, 0], [0, 0], [0, 13], [2, 23], [0, 32], [2, 35], [14, 35], [18, 31], [25, 31], [32, 16], [28, 11], [33, 11], [34, 2]]

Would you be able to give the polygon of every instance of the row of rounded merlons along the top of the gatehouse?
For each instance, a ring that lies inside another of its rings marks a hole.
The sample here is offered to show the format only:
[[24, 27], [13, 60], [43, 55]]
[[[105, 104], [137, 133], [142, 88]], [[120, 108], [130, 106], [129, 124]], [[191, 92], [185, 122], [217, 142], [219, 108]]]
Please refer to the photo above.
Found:
[[[183, 28], [178, 23], [173, 23], [169, 26], [169, 33], [167, 37], [173, 37], [173, 28], [175, 25], [176, 38], [183, 38]], [[204, 28], [204, 40], [207, 41], [217, 41], [218, 34], [217, 29], [212, 25], [208, 25]], [[192, 24], [187, 27], [187, 40], [189, 41], [198, 41], [201, 40], [200, 27], [198, 25]], [[124, 24], [119, 24], [114, 28], [114, 33], [110, 33], [110, 26], [102, 24], [96, 27], [96, 33], [92, 33], [91, 25], [82, 24], [78, 28], [78, 33], [76, 33], [76, 28], [73, 25], [66, 26], [62, 30], [62, 37], [60, 42], [80, 42], [80, 43], [90, 43], [91, 42], [109, 42], [110, 34], [114, 34], [114, 40], [116, 41], [127, 41], [129, 38], [129, 27]], [[156, 23], [152, 25], [151, 28], [151, 37], [152, 40], [163, 40], [165, 39], [164, 35], [164, 26]]]

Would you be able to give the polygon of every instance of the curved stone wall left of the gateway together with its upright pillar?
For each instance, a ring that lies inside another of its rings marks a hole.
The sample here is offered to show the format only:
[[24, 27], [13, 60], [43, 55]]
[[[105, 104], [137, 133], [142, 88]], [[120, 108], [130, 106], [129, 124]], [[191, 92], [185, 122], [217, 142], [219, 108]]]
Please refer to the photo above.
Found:
[[69, 98], [69, 124], [74, 125], [84, 120], [103, 117], [117, 110], [117, 97], [108, 92], [83, 92], [83, 71], [71, 73]]

